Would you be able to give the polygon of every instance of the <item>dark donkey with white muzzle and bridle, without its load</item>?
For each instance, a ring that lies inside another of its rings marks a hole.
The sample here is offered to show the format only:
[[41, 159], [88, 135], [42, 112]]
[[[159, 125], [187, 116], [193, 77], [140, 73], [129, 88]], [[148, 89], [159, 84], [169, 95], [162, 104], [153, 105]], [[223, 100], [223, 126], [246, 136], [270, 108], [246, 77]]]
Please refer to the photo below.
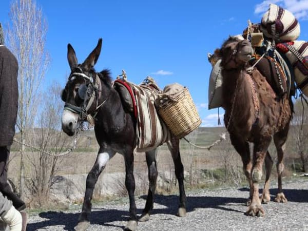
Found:
[[[102, 47], [102, 39], [82, 64], [78, 64], [73, 47], [68, 44], [67, 59], [71, 69], [68, 82], [62, 91], [61, 98], [65, 102], [62, 115], [62, 129], [73, 136], [88, 115], [94, 117], [94, 132], [100, 146], [97, 159], [86, 180], [86, 191], [75, 230], [86, 230], [89, 226], [91, 199], [95, 183], [108, 161], [116, 152], [125, 160], [125, 186], [129, 196], [129, 218], [126, 230], [136, 230], [137, 215], [134, 200], [135, 181], [133, 176], [133, 150], [136, 147], [136, 119], [132, 112], [127, 112], [122, 104], [119, 92], [112, 87], [108, 70], [96, 72]], [[170, 134], [166, 142], [175, 165], [175, 174], [179, 183], [180, 204], [178, 216], [186, 216], [186, 195], [184, 190], [184, 169], [180, 156], [179, 139]], [[145, 152], [148, 167], [149, 189], [145, 208], [139, 221], [147, 221], [153, 208], [157, 182], [156, 148]]]

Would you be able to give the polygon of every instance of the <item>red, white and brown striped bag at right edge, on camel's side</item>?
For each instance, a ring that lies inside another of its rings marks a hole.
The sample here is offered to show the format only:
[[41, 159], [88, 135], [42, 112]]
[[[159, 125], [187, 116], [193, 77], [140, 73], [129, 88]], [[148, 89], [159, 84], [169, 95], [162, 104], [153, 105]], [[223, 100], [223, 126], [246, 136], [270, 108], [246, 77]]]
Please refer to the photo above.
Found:
[[280, 53], [286, 56], [293, 67], [297, 87], [308, 96], [308, 43], [291, 41], [279, 43], [276, 47]]

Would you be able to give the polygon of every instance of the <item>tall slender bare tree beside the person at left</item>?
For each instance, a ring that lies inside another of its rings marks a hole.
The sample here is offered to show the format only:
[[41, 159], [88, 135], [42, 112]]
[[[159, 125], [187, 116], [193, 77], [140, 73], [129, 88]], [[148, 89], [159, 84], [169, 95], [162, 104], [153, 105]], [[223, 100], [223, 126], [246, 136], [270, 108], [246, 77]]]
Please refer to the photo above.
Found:
[[[8, 24], [8, 47], [18, 61], [18, 114], [17, 129], [21, 142], [25, 142], [27, 129], [34, 123], [37, 111], [37, 92], [49, 67], [49, 56], [45, 50], [47, 23], [42, 9], [32, 0], [14, 0]], [[25, 188], [25, 146], [22, 145], [20, 170], [20, 197]]]

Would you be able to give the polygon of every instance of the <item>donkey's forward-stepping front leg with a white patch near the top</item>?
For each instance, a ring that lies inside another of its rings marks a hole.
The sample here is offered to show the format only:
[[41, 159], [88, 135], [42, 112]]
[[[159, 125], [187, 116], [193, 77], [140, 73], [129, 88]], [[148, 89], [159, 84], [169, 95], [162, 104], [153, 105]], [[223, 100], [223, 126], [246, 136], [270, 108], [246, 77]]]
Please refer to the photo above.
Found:
[[75, 226], [76, 231], [84, 231], [88, 228], [90, 224], [90, 213], [91, 213], [91, 200], [93, 196], [93, 190], [98, 178], [105, 168], [108, 161], [114, 156], [115, 152], [112, 150], [103, 150], [100, 148], [97, 159], [88, 174], [86, 183], [86, 192], [84, 203], [82, 206], [82, 212], [79, 216], [78, 224]]

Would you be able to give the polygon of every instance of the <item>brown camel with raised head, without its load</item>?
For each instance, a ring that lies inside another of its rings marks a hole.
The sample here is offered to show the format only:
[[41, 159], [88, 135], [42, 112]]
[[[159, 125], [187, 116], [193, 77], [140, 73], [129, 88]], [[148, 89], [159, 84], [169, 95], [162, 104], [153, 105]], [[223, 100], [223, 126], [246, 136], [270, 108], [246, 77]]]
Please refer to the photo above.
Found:
[[[278, 194], [275, 201], [287, 202], [282, 191], [281, 175], [293, 103], [289, 95], [277, 95], [266, 77], [257, 68], [249, 65], [248, 61], [251, 60], [254, 50], [247, 40], [230, 36], [215, 54], [221, 58], [224, 124], [233, 146], [241, 156], [250, 187], [245, 214], [264, 216], [261, 202], [267, 203], [271, 200], [269, 176], [273, 160], [268, 146], [272, 138], [277, 149]], [[250, 155], [249, 142], [254, 144], [253, 158]], [[262, 196], [259, 198], [259, 182], [264, 161], [266, 177]]]

